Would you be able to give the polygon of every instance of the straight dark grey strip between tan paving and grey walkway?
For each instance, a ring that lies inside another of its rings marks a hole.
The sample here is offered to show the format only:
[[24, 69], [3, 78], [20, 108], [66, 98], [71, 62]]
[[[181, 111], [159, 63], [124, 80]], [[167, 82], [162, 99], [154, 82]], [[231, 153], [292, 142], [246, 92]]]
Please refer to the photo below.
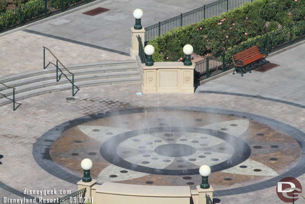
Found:
[[59, 36], [56, 36], [56, 35], [49, 35], [49, 34], [46, 34], [46, 33], [41, 33], [41, 32], [38, 32], [38, 31], [32, 31], [32, 30], [29, 30], [29, 29], [24, 29], [22, 31], [23, 32], [32, 33], [32, 34], [36, 34], [36, 35], [45, 36], [45, 37], [48, 37], [48, 38], [53, 38], [53, 39], [57, 39], [57, 40], [66, 41], [66, 42], [69, 42], [69, 43], [75, 43], [75, 44], [78, 44], [78, 45], [92, 47], [92, 48], [99, 49], [99, 50], [104, 50], [104, 51], [107, 51], [107, 52], [113, 52], [113, 53], [116, 53], [116, 54], [122, 54], [122, 55], [130, 57], [129, 53], [123, 52], [123, 51], [119, 51], [119, 50], [113, 50], [113, 49], [110, 49], [110, 48], [101, 47], [101, 46], [97, 46], [97, 45], [92, 45], [92, 44], [89, 44], [89, 43], [83, 43], [83, 42], [80, 42], [80, 41], [76, 41], [76, 40], [72, 40], [72, 39], [67, 39], [67, 38], [62, 38], [62, 37], [59, 37]]

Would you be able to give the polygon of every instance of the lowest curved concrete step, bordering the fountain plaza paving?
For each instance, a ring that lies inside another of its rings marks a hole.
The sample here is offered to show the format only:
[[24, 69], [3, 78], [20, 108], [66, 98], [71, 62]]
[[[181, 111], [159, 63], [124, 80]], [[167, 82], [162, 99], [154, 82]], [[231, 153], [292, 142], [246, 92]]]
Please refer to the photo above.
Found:
[[[127, 77], [127, 78], [114, 78], [114, 79], [102, 79], [102, 80], [92, 80], [92, 81], [83, 81], [79, 82], [77, 87], [83, 88], [83, 87], [93, 87], [93, 86], [101, 86], [101, 85], [112, 85], [112, 84], [125, 84], [125, 83], [141, 83], [141, 77]], [[59, 91], [67, 91], [72, 90], [72, 84], [71, 83], [65, 83], [57, 86], [50, 86], [50, 87], [43, 87], [39, 89], [34, 89], [31, 91], [26, 91], [22, 93], [17, 93], [15, 95], [16, 102], [24, 100], [26, 98], [31, 98], [34, 96], [49, 94], [49, 93], [55, 93]], [[74, 87], [74, 91], [76, 91], [76, 88]], [[12, 98], [12, 97], [9, 97]], [[0, 107], [5, 106], [7, 104], [13, 103], [11, 100], [7, 98], [1, 98], [0, 99]]]

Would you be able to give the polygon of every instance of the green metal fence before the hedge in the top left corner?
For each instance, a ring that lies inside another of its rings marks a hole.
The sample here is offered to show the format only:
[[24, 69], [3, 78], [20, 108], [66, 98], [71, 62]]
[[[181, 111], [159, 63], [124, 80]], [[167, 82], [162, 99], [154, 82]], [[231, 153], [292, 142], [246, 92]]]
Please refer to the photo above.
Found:
[[95, 0], [35, 0], [0, 13], [0, 33], [50, 17]]

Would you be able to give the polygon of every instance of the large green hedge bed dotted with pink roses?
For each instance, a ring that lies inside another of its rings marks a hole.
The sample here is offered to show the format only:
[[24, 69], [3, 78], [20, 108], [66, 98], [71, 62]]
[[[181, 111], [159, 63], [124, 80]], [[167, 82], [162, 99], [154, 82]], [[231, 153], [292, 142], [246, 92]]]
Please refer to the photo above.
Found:
[[184, 58], [185, 44], [191, 44], [196, 54], [216, 54], [304, 18], [305, 1], [258, 0], [220, 16], [174, 28], [148, 44], [155, 47], [154, 61], [177, 61]]

